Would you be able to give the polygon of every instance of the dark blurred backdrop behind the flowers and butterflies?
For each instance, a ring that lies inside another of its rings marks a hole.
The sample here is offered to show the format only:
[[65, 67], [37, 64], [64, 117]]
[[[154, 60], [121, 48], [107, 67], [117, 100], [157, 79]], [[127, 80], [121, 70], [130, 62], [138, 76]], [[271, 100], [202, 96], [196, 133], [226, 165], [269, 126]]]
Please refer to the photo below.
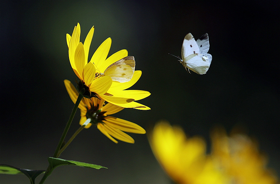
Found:
[[[152, 93], [138, 101], [151, 110], [125, 109], [115, 117], [147, 133], [166, 119], [189, 136], [203, 136], [208, 152], [215, 126], [242, 127], [279, 177], [279, 8], [279, 1], [2, 1], [0, 163], [48, 167], [74, 106], [63, 80], [75, 81], [66, 33], [79, 22], [82, 42], [95, 26], [90, 58], [111, 37], [109, 56], [127, 49], [143, 72], [131, 89]], [[189, 32], [195, 39], [209, 35], [213, 59], [205, 75], [189, 74], [168, 55], [181, 55]], [[79, 116], [78, 110], [67, 140], [80, 127]], [[62, 166], [45, 183], [172, 183], [147, 135], [130, 135], [135, 144], [115, 144], [96, 127], [83, 130], [60, 158], [108, 169]], [[24, 175], [0, 178], [29, 183]]]

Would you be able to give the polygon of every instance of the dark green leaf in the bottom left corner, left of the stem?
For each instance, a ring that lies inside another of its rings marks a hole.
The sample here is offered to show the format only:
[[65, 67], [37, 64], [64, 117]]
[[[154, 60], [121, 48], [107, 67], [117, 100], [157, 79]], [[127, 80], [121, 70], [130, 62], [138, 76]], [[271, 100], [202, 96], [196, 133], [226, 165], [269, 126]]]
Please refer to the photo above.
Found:
[[35, 178], [44, 172], [44, 170], [20, 169], [10, 165], [0, 164], [0, 174], [25, 174], [31, 184], [35, 183]]

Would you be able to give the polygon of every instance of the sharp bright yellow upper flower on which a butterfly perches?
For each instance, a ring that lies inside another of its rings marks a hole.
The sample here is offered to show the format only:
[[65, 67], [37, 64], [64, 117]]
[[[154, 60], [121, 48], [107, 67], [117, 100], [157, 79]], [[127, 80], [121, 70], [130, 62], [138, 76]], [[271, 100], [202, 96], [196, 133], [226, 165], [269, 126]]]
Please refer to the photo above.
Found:
[[150, 109], [145, 105], [134, 102], [135, 100], [148, 97], [150, 92], [126, 90], [139, 80], [142, 74], [141, 71], [134, 71], [132, 79], [123, 83], [112, 81], [110, 76], [102, 75], [111, 64], [128, 56], [126, 49], [120, 50], [107, 58], [112, 43], [111, 38], [108, 38], [96, 49], [90, 62], [88, 62], [88, 53], [93, 32], [94, 26], [87, 34], [84, 44], [80, 42], [81, 28], [79, 23], [75, 26], [72, 36], [66, 34], [70, 64], [75, 74], [82, 81], [83, 87], [97, 94], [97, 96], [105, 101], [120, 107], [138, 108], [142, 110]]

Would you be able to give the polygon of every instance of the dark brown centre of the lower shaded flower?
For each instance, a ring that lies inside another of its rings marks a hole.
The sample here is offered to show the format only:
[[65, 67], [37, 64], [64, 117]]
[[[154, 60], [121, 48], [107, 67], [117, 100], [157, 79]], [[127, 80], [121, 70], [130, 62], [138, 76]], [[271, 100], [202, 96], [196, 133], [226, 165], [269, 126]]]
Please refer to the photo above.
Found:
[[96, 106], [92, 106], [90, 109], [87, 109], [86, 112], [86, 118], [91, 118], [91, 123], [92, 124], [97, 124], [97, 123], [103, 123], [102, 120], [105, 120], [105, 113], [106, 111], [101, 112], [101, 110], [98, 110], [99, 104]]

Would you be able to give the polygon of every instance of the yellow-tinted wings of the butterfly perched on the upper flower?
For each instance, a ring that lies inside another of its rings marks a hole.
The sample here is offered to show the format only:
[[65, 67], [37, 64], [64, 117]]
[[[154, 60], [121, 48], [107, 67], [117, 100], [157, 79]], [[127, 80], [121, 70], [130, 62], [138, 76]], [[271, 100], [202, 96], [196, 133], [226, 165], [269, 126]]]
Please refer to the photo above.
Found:
[[110, 76], [113, 81], [128, 82], [131, 80], [135, 70], [133, 56], [127, 56], [111, 64], [104, 71], [103, 76]]

